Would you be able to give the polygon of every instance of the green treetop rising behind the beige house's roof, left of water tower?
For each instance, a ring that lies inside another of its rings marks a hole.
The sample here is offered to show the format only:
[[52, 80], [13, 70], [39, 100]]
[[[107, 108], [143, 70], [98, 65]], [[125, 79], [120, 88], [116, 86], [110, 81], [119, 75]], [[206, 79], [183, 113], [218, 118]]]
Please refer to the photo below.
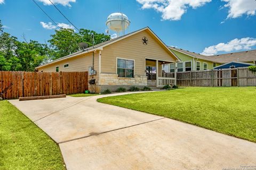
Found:
[[80, 29], [75, 32], [73, 29], [55, 30], [55, 34], [51, 35], [49, 40], [50, 46], [54, 50], [54, 58], [57, 59], [79, 50], [78, 43], [84, 42], [90, 46], [99, 44], [110, 39], [110, 36], [104, 33], [97, 33], [92, 30]]

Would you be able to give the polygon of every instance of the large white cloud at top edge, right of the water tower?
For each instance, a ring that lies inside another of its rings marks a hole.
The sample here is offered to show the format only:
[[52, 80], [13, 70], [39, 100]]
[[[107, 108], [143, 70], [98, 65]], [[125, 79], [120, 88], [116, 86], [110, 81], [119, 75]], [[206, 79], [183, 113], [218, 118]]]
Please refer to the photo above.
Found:
[[153, 8], [162, 13], [163, 20], [180, 20], [188, 7], [197, 8], [211, 0], [137, 0], [142, 9]]

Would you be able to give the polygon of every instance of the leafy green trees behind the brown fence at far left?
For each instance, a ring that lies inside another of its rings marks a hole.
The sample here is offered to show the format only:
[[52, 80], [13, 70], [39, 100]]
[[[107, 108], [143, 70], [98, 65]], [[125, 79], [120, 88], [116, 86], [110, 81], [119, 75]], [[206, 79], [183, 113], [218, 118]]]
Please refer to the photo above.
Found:
[[19, 41], [3, 32], [0, 21], [0, 70], [34, 71], [35, 67], [49, 60], [50, 49], [37, 41]]

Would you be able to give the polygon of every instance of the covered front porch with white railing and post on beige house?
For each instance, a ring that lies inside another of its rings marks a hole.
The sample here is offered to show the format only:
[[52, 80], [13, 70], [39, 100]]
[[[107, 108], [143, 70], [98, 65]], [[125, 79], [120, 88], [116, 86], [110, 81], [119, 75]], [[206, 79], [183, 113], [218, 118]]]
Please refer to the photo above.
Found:
[[171, 61], [162, 61], [155, 60], [153, 58], [146, 58], [145, 66], [146, 66], [146, 76], [147, 76], [147, 86], [161, 88], [166, 85], [176, 85], [176, 69], [174, 72], [170, 73], [169, 67], [168, 69], [164, 69], [163, 65], [174, 63]]

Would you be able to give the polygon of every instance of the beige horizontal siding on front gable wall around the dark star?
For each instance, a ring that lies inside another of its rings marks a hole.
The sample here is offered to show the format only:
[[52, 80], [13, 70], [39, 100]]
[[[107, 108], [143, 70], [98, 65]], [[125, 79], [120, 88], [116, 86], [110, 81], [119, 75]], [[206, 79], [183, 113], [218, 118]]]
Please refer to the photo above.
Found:
[[[144, 36], [148, 38], [148, 45], [142, 44]], [[101, 52], [101, 72], [116, 74], [117, 57], [135, 60], [135, 75], [145, 75], [145, 58], [173, 62], [176, 60], [147, 30], [104, 47]]]

